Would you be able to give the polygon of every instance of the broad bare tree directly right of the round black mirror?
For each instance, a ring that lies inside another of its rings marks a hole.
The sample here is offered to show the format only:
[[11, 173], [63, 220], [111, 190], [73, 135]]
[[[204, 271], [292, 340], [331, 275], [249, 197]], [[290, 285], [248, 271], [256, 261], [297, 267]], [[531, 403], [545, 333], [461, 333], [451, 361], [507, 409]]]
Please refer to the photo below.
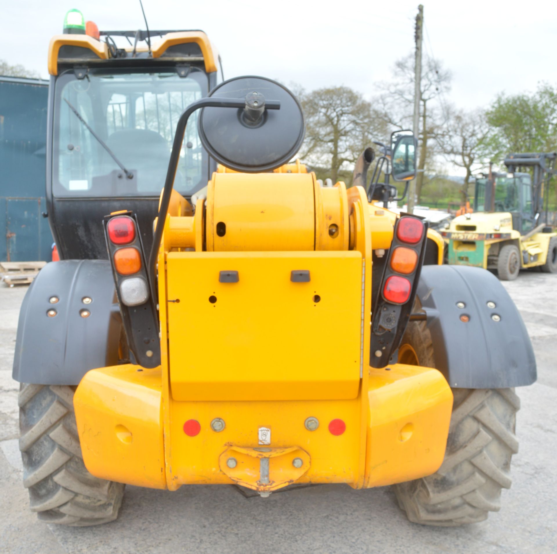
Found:
[[346, 86], [297, 93], [306, 118], [302, 156], [328, 165], [333, 182], [343, 164], [354, 163], [374, 138], [387, 133], [372, 104]]

